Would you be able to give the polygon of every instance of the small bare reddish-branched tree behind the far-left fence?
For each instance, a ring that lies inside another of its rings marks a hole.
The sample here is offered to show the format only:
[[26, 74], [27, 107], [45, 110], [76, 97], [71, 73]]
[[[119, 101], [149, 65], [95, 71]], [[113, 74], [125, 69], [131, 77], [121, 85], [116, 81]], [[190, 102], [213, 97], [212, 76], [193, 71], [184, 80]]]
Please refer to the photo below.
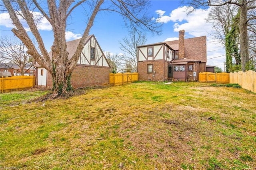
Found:
[[26, 51], [26, 46], [20, 40], [17, 40], [16, 38], [1, 37], [0, 54], [2, 62], [6, 63], [6, 66], [10, 66], [8, 63], [18, 65], [21, 75], [24, 75], [24, 73], [34, 65], [32, 63], [31, 55], [26, 53]]

